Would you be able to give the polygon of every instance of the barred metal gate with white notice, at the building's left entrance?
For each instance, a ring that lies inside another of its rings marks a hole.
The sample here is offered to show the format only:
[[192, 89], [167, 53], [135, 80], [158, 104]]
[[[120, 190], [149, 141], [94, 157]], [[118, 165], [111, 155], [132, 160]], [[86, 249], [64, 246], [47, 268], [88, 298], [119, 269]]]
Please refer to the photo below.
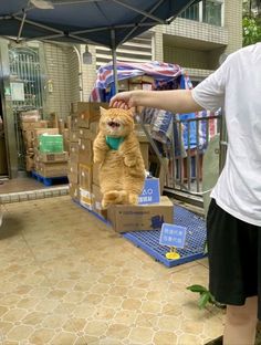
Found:
[[22, 111], [31, 109], [39, 109], [42, 113], [43, 88], [39, 50], [25, 46], [10, 48], [9, 64], [19, 160], [18, 168], [19, 170], [23, 170], [25, 151], [20, 129], [19, 114]]

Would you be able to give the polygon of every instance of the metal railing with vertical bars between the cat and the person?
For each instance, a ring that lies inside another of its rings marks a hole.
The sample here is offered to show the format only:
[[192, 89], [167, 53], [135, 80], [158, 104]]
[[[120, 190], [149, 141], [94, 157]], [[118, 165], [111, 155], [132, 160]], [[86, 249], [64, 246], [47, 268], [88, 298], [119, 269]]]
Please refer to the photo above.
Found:
[[212, 136], [220, 133], [221, 115], [174, 121], [166, 187], [202, 196], [202, 159]]

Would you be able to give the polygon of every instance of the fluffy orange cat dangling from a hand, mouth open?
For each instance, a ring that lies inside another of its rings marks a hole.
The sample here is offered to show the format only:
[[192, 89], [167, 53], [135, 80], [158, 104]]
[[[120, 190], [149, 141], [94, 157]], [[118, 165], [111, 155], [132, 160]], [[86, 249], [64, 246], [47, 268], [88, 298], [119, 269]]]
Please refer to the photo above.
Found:
[[[106, 137], [123, 138], [118, 149], [109, 148]], [[137, 205], [145, 180], [145, 166], [134, 133], [130, 111], [101, 107], [100, 132], [93, 145], [94, 163], [100, 166], [102, 207]]]

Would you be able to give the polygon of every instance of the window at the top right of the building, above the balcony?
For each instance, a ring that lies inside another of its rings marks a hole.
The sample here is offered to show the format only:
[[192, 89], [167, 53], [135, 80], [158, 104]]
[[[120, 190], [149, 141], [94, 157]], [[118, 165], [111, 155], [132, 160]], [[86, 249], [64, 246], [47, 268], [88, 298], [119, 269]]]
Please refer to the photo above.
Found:
[[222, 25], [223, 0], [203, 0], [186, 9], [180, 17], [211, 25]]

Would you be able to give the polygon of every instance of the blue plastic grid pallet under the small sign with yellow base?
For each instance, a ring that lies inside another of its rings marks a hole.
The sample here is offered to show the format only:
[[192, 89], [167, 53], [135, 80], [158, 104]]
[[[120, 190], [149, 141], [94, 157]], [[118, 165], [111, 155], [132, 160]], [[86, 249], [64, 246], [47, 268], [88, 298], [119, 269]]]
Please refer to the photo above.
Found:
[[168, 260], [165, 254], [169, 251], [166, 245], [159, 244], [160, 230], [132, 231], [123, 233], [123, 237], [142, 248], [157, 261], [168, 268], [203, 258], [206, 243], [205, 220], [187, 209], [175, 206], [174, 223], [187, 228], [186, 244], [184, 249], [177, 249], [180, 254], [178, 260]]

